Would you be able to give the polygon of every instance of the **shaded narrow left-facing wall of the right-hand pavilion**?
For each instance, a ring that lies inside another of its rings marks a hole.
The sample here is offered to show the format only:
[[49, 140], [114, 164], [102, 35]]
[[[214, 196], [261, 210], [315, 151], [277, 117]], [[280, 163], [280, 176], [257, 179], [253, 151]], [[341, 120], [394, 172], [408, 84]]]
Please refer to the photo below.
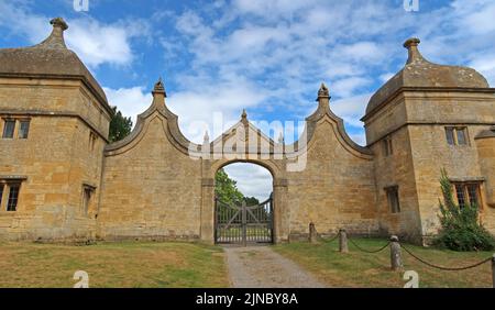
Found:
[[[406, 104], [403, 96], [366, 121], [369, 147], [373, 151], [376, 208], [380, 230], [410, 241], [421, 239], [415, 168], [410, 147]], [[393, 152], [385, 154], [384, 140], [391, 139]], [[385, 188], [397, 186], [400, 212], [393, 213]]]

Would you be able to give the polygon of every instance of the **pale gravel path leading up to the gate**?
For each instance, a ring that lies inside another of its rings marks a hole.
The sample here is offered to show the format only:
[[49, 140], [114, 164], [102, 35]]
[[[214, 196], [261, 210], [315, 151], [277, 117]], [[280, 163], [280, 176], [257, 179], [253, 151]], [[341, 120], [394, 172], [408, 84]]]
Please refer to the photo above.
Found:
[[224, 246], [232, 287], [326, 287], [268, 246]]

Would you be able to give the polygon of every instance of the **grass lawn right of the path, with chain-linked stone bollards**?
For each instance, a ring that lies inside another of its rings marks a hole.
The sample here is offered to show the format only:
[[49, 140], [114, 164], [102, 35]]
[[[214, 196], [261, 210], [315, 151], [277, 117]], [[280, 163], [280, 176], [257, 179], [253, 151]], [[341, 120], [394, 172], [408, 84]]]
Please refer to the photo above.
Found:
[[[353, 239], [365, 250], [377, 250], [385, 240]], [[461, 253], [448, 250], [406, 246], [427, 262], [446, 267], [462, 267], [491, 257], [491, 252]], [[273, 247], [292, 258], [330, 287], [396, 287], [404, 286], [404, 270], [415, 270], [419, 275], [419, 287], [492, 287], [492, 266], [485, 263], [462, 272], [443, 272], [428, 267], [404, 250], [403, 272], [391, 272], [391, 252], [385, 248], [378, 254], [360, 252], [349, 242], [349, 253], [339, 253], [339, 241], [322, 241], [319, 244], [295, 242]]]

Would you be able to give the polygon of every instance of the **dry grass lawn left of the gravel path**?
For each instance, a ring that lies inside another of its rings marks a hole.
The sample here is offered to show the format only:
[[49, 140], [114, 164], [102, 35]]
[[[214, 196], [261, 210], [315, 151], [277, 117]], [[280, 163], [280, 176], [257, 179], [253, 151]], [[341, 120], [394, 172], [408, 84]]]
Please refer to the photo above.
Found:
[[222, 250], [198, 243], [0, 243], [0, 287], [70, 288], [76, 270], [95, 288], [229, 286]]

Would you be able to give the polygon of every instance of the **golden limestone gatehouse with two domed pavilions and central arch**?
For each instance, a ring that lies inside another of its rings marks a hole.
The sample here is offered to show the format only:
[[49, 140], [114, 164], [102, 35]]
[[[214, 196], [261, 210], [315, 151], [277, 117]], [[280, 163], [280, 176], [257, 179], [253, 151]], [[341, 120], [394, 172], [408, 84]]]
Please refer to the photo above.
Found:
[[[477, 203], [495, 233], [495, 89], [474, 69], [428, 62], [417, 38], [367, 104], [365, 147], [348, 136], [323, 85], [304, 143], [275, 142], [243, 113], [196, 145], [162, 81], [131, 135], [109, 144], [106, 95], [66, 47], [67, 24], [52, 24], [35, 46], [0, 49], [0, 240], [213, 242], [215, 174], [233, 162], [271, 171], [274, 242], [304, 237], [310, 222], [323, 235], [344, 228], [424, 242], [439, 228], [442, 168], [461, 207]], [[210, 156], [239, 132], [267, 151]]]

